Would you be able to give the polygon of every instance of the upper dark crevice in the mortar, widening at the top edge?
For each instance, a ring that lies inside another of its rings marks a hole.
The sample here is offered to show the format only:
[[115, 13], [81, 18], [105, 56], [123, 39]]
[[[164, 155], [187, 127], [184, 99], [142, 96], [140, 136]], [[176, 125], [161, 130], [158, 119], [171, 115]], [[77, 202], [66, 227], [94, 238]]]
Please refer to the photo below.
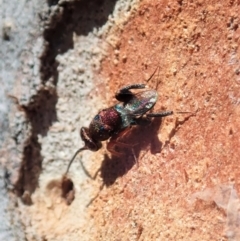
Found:
[[[56, 1], [48, 1], [54, 5]], [[88, 35], [93, 28], [103, 26], [113, 12], [116, 0], [63, 2], [54, 8], [50, 15], [50, 23], [43, 33], [46, 41], [45, 51], [41, 56], [41, 77], [44, 83], [53, 78], [53, 83], [58, 79], [58, 62], [56, 56], [73, 49], [73, 34]]]

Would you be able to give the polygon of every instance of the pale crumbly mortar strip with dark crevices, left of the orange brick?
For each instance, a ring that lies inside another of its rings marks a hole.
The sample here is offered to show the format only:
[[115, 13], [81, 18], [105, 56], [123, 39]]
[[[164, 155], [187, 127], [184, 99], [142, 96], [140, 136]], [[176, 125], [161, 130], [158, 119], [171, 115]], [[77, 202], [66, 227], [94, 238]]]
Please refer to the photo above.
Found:
[[[22, 46], [10, 61], [16, 65], [16, 76], [10, 78], [14, 88], [6, 92], [17, 101], [11, 105], [10, 125], [7, 121], [5, 124], [10, 126], [7, 143], [13, 155], [4, 162], [6, 173], [10, 173], [6, 176], [21, 197], [19, 210], [28, 240], [63, 240], [68, 233], [77, 237], [82, 234], [85, 206], [92, 198], [89, 183], [83, 183], [85, 175], [77, 161], [70, 177], [62, 179], [62, 175], [81, 145], [78, 129], [88, 126], [94, 114], [106, 106], [101, 99], [108, 95], [102, 91], [108, 90], [106, 81], [96, 78], [106, 49], [112, 47], [105, 37], [116, 23], [120, 26], [126, 21], [134, 2], [48, 1], [48, 6], [41, 7], [36, 4], [33, 16], [39, 18], [37, 24], [33, 21], [31, 25], [30, 40], [25, 32], [23, 37], [17, 36], [17, 18], [5, 24], [5, 44], [10, 46], [18, 38], [18, 45]], [[29, 8], [29, 4], [20, 7]], [[22, 16], [20, 7], [18, 16]], [[109, 39], [112, 37], [113, 34]], [[3, 69], [5, 73], [7, 68]], [[7, 81], [6, 76], [3, 79]], [[7, 114], [1, 106], [0, 111]], [[87, 168], [92, 157], [89, 152], [82, 157]], [[64, 232], [55, 226], [56, 220], [61, 220], [61, 227], [67, 227]], [[85, 240], [89, 240], [87, 236]]]

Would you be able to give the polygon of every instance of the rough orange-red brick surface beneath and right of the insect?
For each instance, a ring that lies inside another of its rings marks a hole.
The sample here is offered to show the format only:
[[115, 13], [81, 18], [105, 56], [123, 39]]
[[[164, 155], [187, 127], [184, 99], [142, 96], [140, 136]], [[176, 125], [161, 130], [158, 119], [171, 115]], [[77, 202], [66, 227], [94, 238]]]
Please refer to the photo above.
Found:
[[[229, 223], [215, 199], [188, 202], [207, 187], [214, 196], [214, 187], [229, 182], [239, 193], [239, 4], [143, 1], [120, 33], [118, 51], [102, 64], [110, 88], [147, 79], [159, 66], [155, 109], [196, 114], [168, 117], [161, 128], [154, 122], [132, 135], [138, 165], [93, 205], [95, 239], [240, 239], [236, 229], [225, 233]], [[122, 176], [112, 165], [111, 181]]]

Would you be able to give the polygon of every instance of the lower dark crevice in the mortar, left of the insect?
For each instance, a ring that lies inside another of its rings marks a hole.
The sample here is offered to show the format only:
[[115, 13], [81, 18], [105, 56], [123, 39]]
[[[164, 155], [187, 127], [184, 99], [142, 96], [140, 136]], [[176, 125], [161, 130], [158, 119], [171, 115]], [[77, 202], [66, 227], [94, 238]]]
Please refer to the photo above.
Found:
[[38, 187], [38, 178], [42, 170], [41, 145], [38, 134], [47, 135], [49, 127], [57, 120], [57, 95], [54, 91], [40, 90], [32, 97], [27, 106], [21, 106], [31, 126], [31, 134], [25, 141], [20, 176], [15, 191], [25, 204], [32, 204], [31, 194]]

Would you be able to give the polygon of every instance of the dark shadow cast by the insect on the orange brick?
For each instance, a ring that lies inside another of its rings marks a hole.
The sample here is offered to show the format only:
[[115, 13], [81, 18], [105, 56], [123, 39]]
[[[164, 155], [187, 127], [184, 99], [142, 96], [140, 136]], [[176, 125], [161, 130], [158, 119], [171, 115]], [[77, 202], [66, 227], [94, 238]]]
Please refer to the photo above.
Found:
[[148, 125], [132, 127], [129, 134], [121, 140], [129, 144], [129, 147], [119, 148], [122, 155], [104, 155], [104, 160], [98, 170], [103, 185], [111, 186], [117, 178], [124, 176], [135, 164], [138, 164], [141, 151], [147, 152], [150, 149], [152, 154], [161, 152], [162, 142], [158, 139], [161, 123], [161, 118], [155, 118]]

